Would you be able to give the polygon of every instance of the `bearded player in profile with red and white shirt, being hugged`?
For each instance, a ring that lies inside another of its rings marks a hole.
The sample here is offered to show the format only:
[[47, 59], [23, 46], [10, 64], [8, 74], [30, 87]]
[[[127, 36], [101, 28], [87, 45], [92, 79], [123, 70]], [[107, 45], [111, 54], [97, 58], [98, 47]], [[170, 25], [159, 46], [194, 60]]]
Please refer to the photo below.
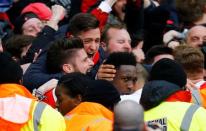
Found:
[[[86, 74], [93, 65], [94, 63], [88, 58], [80, 38], [56, 40], [47, 52], [46, 67], [50, 74], [59, 74], [60, 76], [72, 72]], [[46, 99], [42, 100], [55, 108], [54, 92], [57, 80], [54, 81], [54, 78], [58, 79], [52, 76], [48, 82], [38, 88], [38, 91], [46, 96]]]

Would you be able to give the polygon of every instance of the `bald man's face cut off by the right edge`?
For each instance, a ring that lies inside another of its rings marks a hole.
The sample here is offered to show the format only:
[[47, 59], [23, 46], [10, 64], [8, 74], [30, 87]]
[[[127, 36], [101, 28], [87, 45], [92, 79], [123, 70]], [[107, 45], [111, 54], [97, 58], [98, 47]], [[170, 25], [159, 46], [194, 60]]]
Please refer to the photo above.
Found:
[[206, 42], [206, 27], [195, 26], [188, 32], [186, 42], [189, 46], [200, 48]]

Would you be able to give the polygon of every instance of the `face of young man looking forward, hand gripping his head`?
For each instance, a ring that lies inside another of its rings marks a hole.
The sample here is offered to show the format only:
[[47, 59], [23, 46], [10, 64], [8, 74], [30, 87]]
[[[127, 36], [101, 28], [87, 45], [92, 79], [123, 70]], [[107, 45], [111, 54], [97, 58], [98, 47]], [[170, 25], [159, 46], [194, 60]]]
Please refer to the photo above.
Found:
[[120, 94], [131, 94], [135, 91], [137, 82], [137, 70], [133, 65], [121, 65], [117, 70], [113, 85]]

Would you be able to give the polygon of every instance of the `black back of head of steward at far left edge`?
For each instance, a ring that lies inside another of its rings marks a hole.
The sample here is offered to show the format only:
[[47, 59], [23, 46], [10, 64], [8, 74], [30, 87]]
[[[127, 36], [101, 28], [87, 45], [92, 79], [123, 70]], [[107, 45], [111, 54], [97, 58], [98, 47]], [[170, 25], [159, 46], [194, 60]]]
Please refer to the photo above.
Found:
[[0, 84], [15, 83], [20, 84], [23, 71], [8, 53], [0, 53]]

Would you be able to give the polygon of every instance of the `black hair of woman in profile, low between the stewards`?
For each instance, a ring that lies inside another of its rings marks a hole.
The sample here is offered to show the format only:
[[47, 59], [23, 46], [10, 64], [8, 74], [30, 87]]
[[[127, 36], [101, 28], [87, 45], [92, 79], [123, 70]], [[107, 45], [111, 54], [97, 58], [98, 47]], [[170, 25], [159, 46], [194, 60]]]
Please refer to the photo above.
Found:
[[83, 96], [86, 92], [89, 78], [79, 72], [68, 73], [60, 78], [58, 85], [66, 89], [67, 94], [74, 98], [77, 95]]

